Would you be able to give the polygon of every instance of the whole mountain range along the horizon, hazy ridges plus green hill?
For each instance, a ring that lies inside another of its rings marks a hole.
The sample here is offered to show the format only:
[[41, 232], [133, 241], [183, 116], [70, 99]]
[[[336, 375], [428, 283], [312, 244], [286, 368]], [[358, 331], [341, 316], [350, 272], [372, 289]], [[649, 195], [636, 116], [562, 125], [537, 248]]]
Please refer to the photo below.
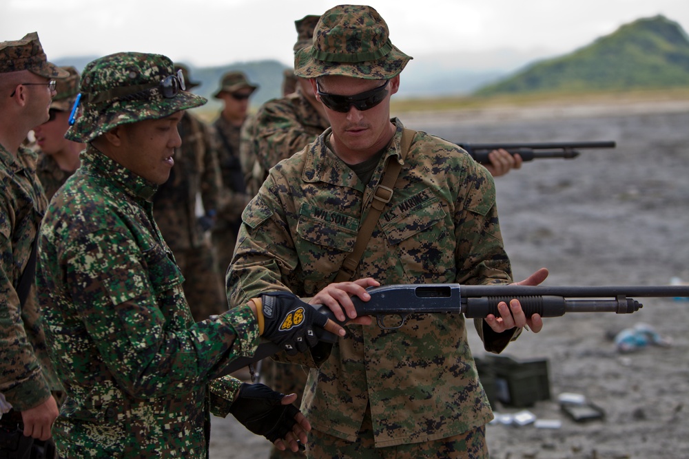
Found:
[[[664, 89], [689, 86], [689, 39], [681, 26], [663, 16], [638, 19], [622, 25], [570, 54], [545, 58], [546, 50], [515, 52], [455, 52], [414, 56], [402, 74], [395, 98], [433, 98], [475, 94], [531, 94], [626, 89]], [[79, 71], [96, 56], [55, 59]], [[189, 65], [189, 63], [187, 63]], [[251, 107], [280, 97], [279, 61], [250, 61], [216, 67], [189, 65], [191, 77], [201, 85], [196, 94], [208, 98], [206, 110], [220, 109], [213, 98], [220, 78], [230, 70], [247, 74], [259, 85]]]

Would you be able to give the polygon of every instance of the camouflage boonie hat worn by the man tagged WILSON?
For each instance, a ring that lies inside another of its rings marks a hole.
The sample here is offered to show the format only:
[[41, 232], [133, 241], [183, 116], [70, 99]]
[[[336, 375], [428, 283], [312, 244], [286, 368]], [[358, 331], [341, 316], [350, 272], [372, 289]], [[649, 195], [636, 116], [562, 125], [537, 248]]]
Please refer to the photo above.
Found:
[[340, 5], [316, 24], [313, 45], [294, 56], [294, 74], [389, 80], [402, 72], [411, 56], [392, 44], [387, 23], [370, 6]]

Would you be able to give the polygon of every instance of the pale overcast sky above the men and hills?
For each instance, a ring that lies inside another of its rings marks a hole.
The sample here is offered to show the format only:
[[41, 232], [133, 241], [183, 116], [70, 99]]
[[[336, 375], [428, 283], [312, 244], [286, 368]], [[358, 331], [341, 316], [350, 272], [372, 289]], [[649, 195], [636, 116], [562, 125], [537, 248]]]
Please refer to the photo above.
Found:
[[[48, 59], [155, 52], [196, 66], [292, 64], [294, 21], [320, 0], [0, 0], [0, 41], [38, 32]], [[564, 54], [641, 17], [689, 31], [689, 0], [371, 0], [411, 56], [510, 48]]]

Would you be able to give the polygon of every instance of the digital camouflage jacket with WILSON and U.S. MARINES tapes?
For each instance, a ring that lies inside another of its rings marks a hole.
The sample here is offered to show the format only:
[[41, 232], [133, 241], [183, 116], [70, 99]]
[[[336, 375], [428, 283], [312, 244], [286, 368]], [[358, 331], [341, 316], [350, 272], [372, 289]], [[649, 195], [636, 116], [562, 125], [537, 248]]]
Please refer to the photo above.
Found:
[[[384, 160], [399, 154], [402, 124], [395, 124], [368, 185], [325, 145], [329, 130], [271, 170], [243, 215], [227, 279], [232, 304], [265, 290], [313, 297], [333, 281], [356, 240], [362, 202], [371, 201]], [[353, 278], [362, 277], [382, 285], [510, 282], [488, 171], [451, 142], [419, 132]], [[486, 348], [502, 350], [511, 336], [495, 338]], [[376, 447], [445, 438], [491, 420], [464, 316], [419, 314], [394, 331], [349, 326], [311, 370], [302, 409], [314, 429], [355, 441], [367, 403]]]

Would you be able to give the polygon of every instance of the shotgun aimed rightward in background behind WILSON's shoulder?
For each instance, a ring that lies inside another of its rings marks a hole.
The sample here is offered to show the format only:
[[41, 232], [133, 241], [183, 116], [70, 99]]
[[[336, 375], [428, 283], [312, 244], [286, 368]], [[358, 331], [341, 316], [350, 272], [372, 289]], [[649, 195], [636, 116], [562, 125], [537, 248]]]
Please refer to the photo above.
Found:
[[511, 155], [519, 153], [524, 161], [544, 158], [572, 159], [579, 156], [579, 149], [615, 148], [615, 142], [536, 142], [536, 143], [457, 143], [466, 150], [471, 158], [481, 164], [490, 164], [488, 153], [504, 149]]

